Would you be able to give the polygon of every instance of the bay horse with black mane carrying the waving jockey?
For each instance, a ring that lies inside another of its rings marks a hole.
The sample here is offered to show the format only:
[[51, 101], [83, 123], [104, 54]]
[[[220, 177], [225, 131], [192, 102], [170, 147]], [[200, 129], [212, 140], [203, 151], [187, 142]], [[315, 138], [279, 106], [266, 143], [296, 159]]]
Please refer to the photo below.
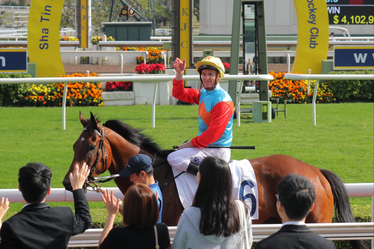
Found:
[[[84, 129], [73, 145], [74, 158], [62, 181], [66, 190], [72, 191], [69, 174], [74, 171], [75, 164], [86, 162], [92, 170], [89, 177], [98, 177], [106, 170], [115, 175], [126, 167], [129, 158], [139, 153], [154, 159], [157, 165], [154, 166], [154, 178], [159, 185], [174, 178], [171, 166], [166, 161], [166, 157], [174, 150], [161, 150], [141, 129], [132, 128], [122, 121], [108, 120], [101, 125], [92, 112], [89, 120], [79, 113]], [[344, 183], [334, 172], [286, 155], [264, 156], [249, 159], [249, 162], [254, 168], [258, 185], [259, 218], [252, 220], [253, 224], [281, 223], [276, 209], [276, 185], [290, 173], [306, 177], [315, 186], [315, 207], [306, 218], [306, 223], [331, 222], [334, 207], [338, 222], [355, 222]], [[116, 177], [114, 182], [123, 194], [133, 184], [129, 177]], [[162, 196], [162, 221], [168, 226], [176, 226], [184, 209], [175, 181], [167, 184], [162, 190]]]

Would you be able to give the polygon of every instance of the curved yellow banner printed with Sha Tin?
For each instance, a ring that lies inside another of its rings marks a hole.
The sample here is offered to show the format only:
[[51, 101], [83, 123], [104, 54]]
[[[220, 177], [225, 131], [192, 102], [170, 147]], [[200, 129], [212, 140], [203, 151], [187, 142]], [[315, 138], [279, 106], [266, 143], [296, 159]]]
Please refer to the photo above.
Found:
[[28, 16], [27, 49], [29, 62], [36, 63], [37, 77], [64, 74], [60, 53], [60, 22], [64, 1], [32, 1]]

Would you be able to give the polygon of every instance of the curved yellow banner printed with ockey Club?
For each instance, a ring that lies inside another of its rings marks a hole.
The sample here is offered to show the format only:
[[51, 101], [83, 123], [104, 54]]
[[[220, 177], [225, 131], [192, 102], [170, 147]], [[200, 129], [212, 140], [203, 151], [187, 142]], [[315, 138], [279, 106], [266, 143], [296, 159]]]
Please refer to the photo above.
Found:
[[328, 13], [326, 0], [294, 0], [297, 15], [297, 46], [292, 72], [321, 74], [327, 59]]

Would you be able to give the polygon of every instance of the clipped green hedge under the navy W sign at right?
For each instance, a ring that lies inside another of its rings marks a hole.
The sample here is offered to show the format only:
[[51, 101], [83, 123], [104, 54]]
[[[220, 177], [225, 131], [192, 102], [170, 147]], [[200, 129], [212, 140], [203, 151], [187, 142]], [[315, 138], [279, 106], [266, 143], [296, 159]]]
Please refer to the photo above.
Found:
[[[374, 71], [334, 71], [328, 74], [374, 74]], [[338, 102], [374, 101], [374, 78], [371, 80], [327, 80], [326, 83]]]

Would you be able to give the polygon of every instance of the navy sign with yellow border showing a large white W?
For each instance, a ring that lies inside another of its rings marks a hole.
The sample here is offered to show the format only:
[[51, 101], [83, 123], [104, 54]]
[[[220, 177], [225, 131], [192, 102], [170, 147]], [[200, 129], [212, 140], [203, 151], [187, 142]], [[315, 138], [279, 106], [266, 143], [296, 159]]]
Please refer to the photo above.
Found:
[[334, 46], [334, 70], [374, 70], [374, 46]]

